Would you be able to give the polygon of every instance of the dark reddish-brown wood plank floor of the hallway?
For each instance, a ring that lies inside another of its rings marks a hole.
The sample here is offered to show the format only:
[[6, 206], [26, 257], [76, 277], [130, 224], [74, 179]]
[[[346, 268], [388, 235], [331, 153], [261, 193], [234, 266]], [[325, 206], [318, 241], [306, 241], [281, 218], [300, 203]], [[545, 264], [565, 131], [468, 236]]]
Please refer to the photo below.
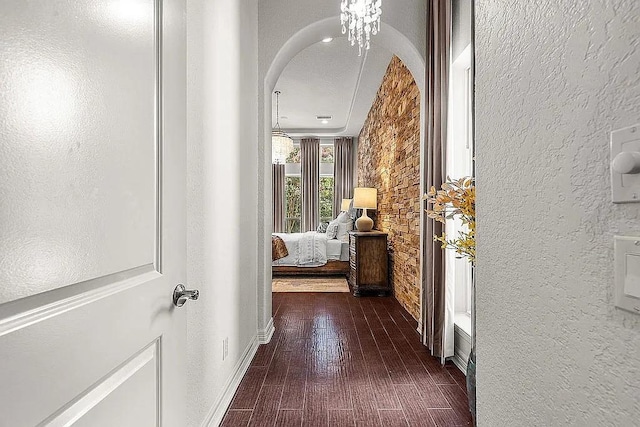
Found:
[[472, 425], [464, 375], [394, 298], [279, 293], [273, 311], [223, 426]]

